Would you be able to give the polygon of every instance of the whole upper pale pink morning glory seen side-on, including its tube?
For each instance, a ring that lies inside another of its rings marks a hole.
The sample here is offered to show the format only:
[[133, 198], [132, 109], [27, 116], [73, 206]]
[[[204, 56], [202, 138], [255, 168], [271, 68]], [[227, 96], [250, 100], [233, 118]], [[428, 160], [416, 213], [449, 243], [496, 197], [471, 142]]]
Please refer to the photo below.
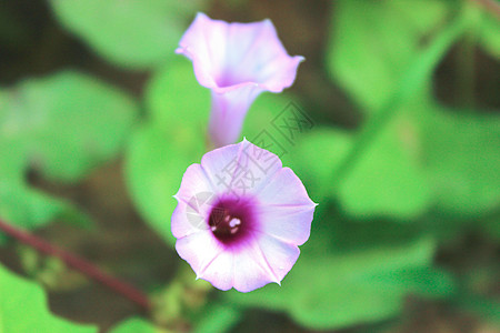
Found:
[[177, 53], [188, 57], [201, 85], [212, 91], [209, 134], [214, 147], [234, 143], [262, 91], [290, 87], [303, 57], [290, 57], [270, 20], [228, 23], [198, 13]]

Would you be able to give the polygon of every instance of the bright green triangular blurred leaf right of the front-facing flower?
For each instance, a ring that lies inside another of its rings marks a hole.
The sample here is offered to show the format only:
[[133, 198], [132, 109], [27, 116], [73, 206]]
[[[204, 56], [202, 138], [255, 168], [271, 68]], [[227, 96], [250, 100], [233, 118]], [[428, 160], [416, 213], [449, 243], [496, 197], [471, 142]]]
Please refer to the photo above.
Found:
[[350, 214], [397, 216], [423, 213], [430, 189], [419, 161], [418, 124], [399, 117], [380, 133], [339, 185], [338, 195]]

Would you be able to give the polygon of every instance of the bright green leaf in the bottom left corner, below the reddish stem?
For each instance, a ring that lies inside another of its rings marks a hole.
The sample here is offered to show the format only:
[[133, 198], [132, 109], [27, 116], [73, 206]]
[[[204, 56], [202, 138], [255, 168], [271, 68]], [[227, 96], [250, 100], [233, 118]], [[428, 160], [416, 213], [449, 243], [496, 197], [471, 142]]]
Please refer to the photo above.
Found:
[[90, 333], [96, 326], [81, 325], [50, 313], [43, 290], [0, 265], [0, 332]]

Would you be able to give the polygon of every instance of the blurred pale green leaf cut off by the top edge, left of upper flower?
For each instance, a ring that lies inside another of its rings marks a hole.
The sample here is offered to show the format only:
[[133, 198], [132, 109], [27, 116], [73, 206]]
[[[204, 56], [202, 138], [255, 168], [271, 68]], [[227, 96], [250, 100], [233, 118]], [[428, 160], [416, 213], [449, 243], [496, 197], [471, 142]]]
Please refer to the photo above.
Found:
[[50, 0], [56, 17], [106, 59], [146, 69], [174, 49], [207, 0]]

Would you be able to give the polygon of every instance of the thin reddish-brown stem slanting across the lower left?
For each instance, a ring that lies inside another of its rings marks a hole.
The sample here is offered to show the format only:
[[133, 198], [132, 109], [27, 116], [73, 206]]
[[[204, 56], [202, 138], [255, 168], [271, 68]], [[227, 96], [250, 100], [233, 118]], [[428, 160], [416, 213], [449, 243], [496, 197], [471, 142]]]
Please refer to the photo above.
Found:
[[150, 310], [150, 303], [146, 294], [141, 291], [137, 290], [134, 286], [122, 282], [111, 275], [106, 274], [92, 263], [76, 256], [69, 252], [63, 251], [62, 249], [56, 248], [49, 242], [16, 226], [12, 226], [0, 220], [0, 230], [10, 235], [11, 238], [18, 240], [21, 243], [24, 243], [41, 253], [56, 256], [62, 260], [68, 266], [73, 268], [74, 270], [81, 272], [90, 279], [99, 282], [100, 284], [109, 287], [116, 293], [122, 295], [126, 299], [129, 299], [133, 303], [138, 304], [146, 311]]

